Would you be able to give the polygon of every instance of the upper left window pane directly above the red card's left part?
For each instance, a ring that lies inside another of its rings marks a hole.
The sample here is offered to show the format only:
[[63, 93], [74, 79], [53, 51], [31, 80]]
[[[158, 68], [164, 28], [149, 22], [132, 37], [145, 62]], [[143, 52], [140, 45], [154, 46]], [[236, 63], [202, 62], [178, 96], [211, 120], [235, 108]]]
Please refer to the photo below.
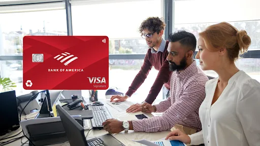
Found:
[[65, 10], [0, 14], [0, 55], [22, 55], [25, 35], [67, 35]]

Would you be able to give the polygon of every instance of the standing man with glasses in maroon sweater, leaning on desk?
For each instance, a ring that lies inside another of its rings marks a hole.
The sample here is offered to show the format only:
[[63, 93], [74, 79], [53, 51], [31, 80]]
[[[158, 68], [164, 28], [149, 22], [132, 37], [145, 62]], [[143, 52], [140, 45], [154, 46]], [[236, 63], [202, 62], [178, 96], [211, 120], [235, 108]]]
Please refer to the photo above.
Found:
[[[159, 70], [159, 72], [144, 102], [152, 104], [162, 87], [163, 99], [169, 96], [171, 71], [169, 70], [169, 62], [166, 59], [169, 42], [163, 39], [165, 26], [166, 24], [158, 17], [149, 17], [142, 22], [139, 32], [149, 47], [144, 58], [144, 63], [128, 88], [128, 91], [125, 93], [125, 96], [112, 96], [111, 101], [122, 102], [131, 97], [145, 81], [152, 67]], [[139, 112], [142, 109], [141, 105], [140, 103], [131, 105], [126, 109], [126, 112]]]

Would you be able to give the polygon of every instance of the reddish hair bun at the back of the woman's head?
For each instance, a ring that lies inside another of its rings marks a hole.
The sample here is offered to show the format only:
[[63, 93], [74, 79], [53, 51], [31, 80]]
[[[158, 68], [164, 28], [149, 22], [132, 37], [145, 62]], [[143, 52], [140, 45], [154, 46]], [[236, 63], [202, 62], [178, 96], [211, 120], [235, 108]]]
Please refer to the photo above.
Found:
[[245, 30], [238, 31], [237, 39], [238, 39], [240, 54], [247, 52], [248, 47], [251, 45], [251, 39], [247, 35], [246, 31]]

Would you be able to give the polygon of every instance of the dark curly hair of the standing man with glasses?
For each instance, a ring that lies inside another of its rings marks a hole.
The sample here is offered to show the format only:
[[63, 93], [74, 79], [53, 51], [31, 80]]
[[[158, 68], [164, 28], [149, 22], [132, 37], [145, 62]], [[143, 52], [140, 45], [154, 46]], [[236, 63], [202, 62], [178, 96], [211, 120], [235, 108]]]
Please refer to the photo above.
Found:
[[139, 27], [139, 32], [142, 33], [144, 29], [148, 29], [150, 32], [159, 32], [165, 29], [166, 24], [163, 18], [159, 17], [148, 17], [142, 22]]

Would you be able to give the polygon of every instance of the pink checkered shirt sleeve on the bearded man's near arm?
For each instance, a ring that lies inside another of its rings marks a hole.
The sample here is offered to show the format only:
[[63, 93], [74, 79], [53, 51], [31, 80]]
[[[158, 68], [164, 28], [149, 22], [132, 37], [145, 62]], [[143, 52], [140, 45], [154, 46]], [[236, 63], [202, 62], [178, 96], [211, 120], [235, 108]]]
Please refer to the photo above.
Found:
[[[205, 98], [205, 83], [191, 82], [185, 88], [183, 94], [176, 98], [176, 101], [163, 113], [162, 116], [155, 116], [148, 119], [133, 120], [135, 131], [157, 132], [170, 130], [175, 124], [183, 121], [190, 113], [200, 107]], [[198, 123], [197, 121], [190, 121]], [[200, 125], [197, 125], [198, 127]]]

